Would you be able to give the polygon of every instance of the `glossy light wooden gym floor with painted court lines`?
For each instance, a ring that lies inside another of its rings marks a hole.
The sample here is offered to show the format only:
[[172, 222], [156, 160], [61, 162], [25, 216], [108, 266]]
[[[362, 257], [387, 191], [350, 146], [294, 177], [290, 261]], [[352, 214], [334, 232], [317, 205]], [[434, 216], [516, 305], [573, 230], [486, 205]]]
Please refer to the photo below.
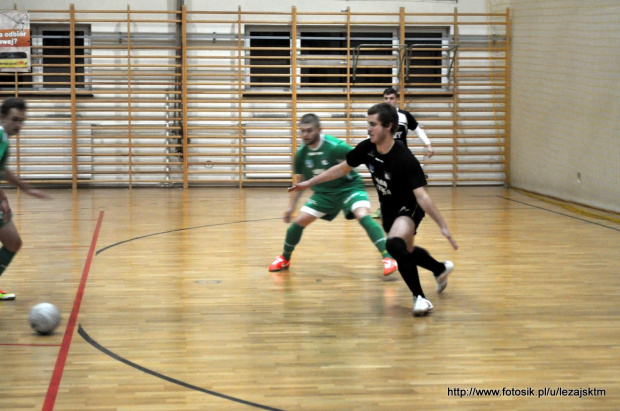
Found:
[[[461, 248], [422, 223], [456, 269], [441, 296], [421, 271], [435, 310], [414, 318], [342, 217], [268, 273], [284, 188], [48, 192], [8, 191], [24, 248], [0, 278], [2, 410], [620, 409], [617, 220], [433, 187]], [[27, 322], [43, 301], [63, 313], [49, 337]]]

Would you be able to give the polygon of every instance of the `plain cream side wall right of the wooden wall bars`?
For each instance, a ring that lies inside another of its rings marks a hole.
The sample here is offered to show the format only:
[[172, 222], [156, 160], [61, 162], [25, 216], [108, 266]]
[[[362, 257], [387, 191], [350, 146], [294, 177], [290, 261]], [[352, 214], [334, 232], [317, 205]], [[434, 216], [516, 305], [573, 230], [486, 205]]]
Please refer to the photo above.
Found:
[[492, 4], [512, 15], [512, 185], [620, 212], [620, 2]]

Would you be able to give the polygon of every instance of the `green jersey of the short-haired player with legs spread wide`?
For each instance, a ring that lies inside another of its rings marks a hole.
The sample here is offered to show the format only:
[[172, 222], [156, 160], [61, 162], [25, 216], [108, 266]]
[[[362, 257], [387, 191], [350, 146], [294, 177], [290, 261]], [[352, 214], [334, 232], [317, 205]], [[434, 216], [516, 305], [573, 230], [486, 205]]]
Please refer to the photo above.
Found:
[[[304, 145], [297, 150], [295, 156], [295, 174], [303, 175], [306, 180], [342, 163], [345, 161], [347, 153], [353, 150], [353, 147], [334, 136], [321, 134], [319, 138], [318, 147], [310, 148]], [[334, 193], [354, 187], [363, 189], [364, 183], [357, 171], [351, 170], [349, 174], [343, 177], [315, 185], [312, 190], [316, 193]]]

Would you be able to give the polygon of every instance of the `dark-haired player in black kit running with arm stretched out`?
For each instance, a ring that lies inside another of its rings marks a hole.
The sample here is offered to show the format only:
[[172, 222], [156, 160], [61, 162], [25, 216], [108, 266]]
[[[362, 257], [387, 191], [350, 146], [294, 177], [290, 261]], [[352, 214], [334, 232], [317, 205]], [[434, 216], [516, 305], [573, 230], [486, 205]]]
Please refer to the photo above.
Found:
[[428, 314], [433, 304], [424, 295], [417, 265], [433, 272], [438, 293], [448, 285], [448, 275], [454, 268], [452, 262], [440, 263], [425, 249], [414, 247], [416, 228], [425, 213], [435, 220], [455, 250], [458, 246], [441, 213], [424, 189], [426, 178], [420, 163], [404, 144], [394, 141], [397, 126], [398, 113], [394, 107], [387, 103], [372, 106], [368, 110], [370, 138], [350, 151], [342, 163], [295, 184], [289, 191], [304, 190], [333, 180], [366, 164], [383, 210], [383, 228], [388, 233], [387, 250], [398, 262], [398, 269], [413, 293], [413, 314], [420, 316]]

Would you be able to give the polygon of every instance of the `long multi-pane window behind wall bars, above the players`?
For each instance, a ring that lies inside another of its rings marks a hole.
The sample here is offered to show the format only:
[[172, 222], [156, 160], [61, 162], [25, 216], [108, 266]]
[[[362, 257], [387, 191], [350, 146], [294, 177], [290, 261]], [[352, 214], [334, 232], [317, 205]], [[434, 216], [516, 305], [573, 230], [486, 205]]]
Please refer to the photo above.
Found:
[[[397, 28], [356, 27], [349, 41], [342, 28], [300, 27], [296, 56], [291, 54], [292, 36], [287, 30], [284, 26], [248, 29], [251, 58], [246, 64], [252, 88], [290, 87], [295, 57], [298, 87], [316, 91], [344, 88], [348, 82], [358, 91], [375, 92], [399, 85], [400, 70], [407, 74], [408, 89], [446, 87], [449, 27], [416, 27], [405, 39], [399, 38]], [[408, 59], [401, 61], [401, 52]]]

